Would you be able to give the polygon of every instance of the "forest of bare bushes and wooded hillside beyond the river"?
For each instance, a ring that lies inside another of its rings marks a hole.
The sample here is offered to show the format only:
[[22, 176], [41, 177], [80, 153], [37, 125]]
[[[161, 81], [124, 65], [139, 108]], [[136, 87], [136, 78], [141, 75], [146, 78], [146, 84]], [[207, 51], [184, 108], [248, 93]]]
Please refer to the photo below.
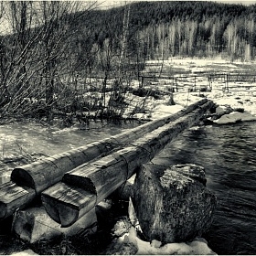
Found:
[[0, 118], [122, 117], [146, 60], [252, 61], [256, 5], [0, 2]]

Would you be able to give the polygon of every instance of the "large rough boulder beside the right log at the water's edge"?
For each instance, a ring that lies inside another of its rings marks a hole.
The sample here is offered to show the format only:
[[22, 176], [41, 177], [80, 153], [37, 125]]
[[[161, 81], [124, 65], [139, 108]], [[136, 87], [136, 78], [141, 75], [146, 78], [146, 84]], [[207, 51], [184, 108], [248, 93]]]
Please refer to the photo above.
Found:
[[216, 197], [198, 165], [143, 165], [134, 182], [133, 207], [147, 240], [187, 241], [208, 231]]

